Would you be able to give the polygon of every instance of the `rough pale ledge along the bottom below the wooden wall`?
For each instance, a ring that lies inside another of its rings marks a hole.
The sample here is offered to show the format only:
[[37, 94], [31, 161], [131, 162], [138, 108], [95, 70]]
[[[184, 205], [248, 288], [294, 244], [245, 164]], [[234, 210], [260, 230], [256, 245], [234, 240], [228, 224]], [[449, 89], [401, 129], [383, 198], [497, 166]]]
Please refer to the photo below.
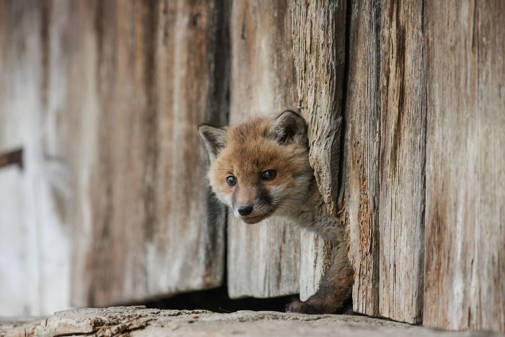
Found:
[[112, 307], [59, 311], [37, 321], [0, 320], [0, 337], [18, 336], [504, 336], [448, 332], [388, 320], [347, 315], [273, 311], [218, 314], [205, 310]]

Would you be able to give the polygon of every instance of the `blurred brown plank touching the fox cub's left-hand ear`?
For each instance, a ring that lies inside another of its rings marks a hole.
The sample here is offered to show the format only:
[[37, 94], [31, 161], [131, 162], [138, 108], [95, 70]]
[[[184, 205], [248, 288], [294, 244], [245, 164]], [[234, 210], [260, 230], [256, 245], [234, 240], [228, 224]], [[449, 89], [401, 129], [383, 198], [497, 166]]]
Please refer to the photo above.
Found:
[[207, 153], [197, 125], [227, 123], [229, 13], [222, 0], [164, 2], [158, 13], [163, 34], [155, 44], [158, 71], [151, 70], [158, 117], [150, 125], [159, 138], [149, 161], [160, 218], [147, 260], [149, 286], [175, 293], [219, 286], [225, 273], [225, 210], [205, 182]]

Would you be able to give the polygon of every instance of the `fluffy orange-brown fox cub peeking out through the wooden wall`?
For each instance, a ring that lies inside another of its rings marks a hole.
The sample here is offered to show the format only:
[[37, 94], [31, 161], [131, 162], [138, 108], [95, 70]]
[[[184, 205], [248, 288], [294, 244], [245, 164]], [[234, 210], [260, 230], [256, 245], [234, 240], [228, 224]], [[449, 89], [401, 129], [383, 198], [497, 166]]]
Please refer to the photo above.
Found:
[[309, 139], [303, 117], [287, 110], [277, 118], [252, 118], [235, 126], [200, 125], [211, 161], [207, 173], [214, 194], [247, 224], [269, 216], [322, 235], [335, 243], [333, 262], [319, 290], [288, 312], [332, 313], [352, 286], [343, 228], [327, 212], [309, 164]]

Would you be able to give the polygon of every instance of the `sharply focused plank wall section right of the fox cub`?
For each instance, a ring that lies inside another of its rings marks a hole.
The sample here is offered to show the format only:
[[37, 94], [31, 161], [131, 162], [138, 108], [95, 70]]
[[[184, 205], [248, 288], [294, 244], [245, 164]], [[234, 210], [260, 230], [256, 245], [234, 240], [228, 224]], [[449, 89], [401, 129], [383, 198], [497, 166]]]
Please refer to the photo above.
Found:
[[358, 1], [347, 13], [354, 308], [504, 331], [503, 5]]

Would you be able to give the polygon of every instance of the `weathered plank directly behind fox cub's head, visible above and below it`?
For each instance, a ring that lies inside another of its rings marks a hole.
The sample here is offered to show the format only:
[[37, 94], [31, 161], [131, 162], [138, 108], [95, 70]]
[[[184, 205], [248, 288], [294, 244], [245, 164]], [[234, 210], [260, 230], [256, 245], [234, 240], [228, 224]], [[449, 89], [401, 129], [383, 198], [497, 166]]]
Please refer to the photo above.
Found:
[[[230, 122], [275, 116], [297, 102], [290, 1], [232, 3]], [[228, 293], [298, 293], [299, 230], [277, 219], [245, 225], [229, 217]]]

